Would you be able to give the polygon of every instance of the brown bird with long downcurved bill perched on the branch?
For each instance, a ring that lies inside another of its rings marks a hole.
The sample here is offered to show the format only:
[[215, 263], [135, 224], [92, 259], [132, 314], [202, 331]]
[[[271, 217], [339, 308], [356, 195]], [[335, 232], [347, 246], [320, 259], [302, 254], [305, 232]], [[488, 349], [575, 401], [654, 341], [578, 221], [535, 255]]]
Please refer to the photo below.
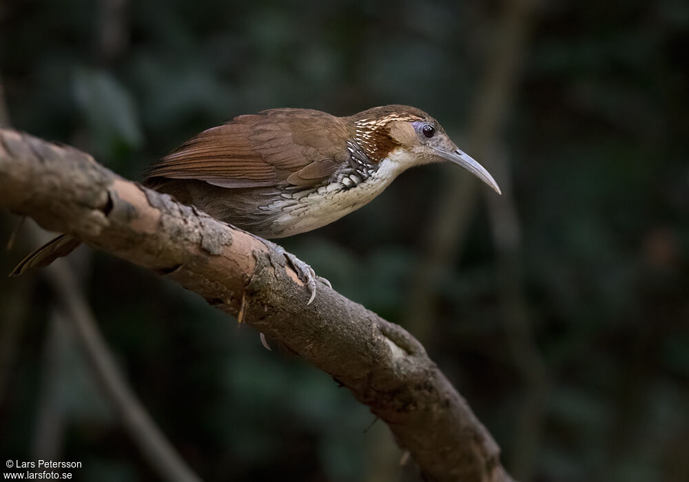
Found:
[[[275, 239], [336, 221], [376, 198], [410, 167], [440, 162], [463, 167], [501, 193], [493, 176], [460, 150], [438, 121], [407, 105], [344, 117], [296, 108], [237, 116], [154, 163], [144, 172], [143, 185], [261, 239]], [[59, 235], [10, 276], [46, 266], [79, 244], [69, 234]], [[307, 281], [310, 303], [315, 273], [282, 253]]]

